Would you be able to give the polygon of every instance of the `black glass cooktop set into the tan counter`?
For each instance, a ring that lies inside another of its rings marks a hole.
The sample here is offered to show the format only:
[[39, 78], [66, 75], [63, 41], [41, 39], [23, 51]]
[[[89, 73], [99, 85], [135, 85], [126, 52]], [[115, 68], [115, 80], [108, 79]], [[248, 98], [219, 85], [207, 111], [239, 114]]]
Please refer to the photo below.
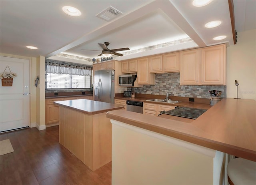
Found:
[[161, 114], [176, 115], [180, 117], [186, 117], [190, 119], [198, 118], [202, 113], [207, 111], [206, 109], [196, 109], [190, 107], [176, 107], [169, 111], [162, 111]]

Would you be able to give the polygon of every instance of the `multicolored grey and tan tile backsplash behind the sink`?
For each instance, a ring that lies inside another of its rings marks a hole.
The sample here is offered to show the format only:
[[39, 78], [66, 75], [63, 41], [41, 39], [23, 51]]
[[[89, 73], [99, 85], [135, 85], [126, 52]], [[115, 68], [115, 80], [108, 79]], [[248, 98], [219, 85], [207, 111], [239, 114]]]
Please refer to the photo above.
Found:
[[226, 86], [181, 86], [180, 73], [155, 74], [155, 85], [144, 85], [134, 90], [135, 94], [166, 95], [166, 92], [171, 92], [173, 96], [199, 98], [209, 98], [208, 90], [216, 90], [222, 92], [221, 97], [226, 97]]

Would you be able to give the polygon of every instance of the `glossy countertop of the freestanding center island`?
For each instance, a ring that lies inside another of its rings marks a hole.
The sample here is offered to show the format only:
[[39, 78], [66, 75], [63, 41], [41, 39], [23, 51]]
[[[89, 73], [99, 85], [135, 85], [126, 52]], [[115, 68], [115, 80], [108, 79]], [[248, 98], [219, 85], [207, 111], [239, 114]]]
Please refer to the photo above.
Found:
[[124, 108], [123, 105], [105, 103], [89, 99], [54, 101], [54, 103], [91, 115]]

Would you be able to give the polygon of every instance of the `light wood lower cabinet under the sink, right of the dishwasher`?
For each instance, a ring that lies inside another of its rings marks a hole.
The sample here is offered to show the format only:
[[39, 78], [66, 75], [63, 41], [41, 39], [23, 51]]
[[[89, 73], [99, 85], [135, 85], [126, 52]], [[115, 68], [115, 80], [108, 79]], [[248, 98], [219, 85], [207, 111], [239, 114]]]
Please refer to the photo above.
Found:
[[168, 111], [174, 109], [175, 106], [172, 105], [163, 105], [157, 103], [144, 103], [143, 105], [143, 114], [149, 114], [158, 116], [161, 111]]

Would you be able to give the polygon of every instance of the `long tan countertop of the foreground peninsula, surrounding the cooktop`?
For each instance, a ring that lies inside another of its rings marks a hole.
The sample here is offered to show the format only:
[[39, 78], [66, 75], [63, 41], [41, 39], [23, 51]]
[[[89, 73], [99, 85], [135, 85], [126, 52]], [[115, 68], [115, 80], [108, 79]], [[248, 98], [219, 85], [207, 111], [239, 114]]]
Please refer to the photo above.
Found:
[[256, 101], [253, 99], [222, 99], [191, 123], [125, 110], [109, 111], [107, 117], [256, 161]]

